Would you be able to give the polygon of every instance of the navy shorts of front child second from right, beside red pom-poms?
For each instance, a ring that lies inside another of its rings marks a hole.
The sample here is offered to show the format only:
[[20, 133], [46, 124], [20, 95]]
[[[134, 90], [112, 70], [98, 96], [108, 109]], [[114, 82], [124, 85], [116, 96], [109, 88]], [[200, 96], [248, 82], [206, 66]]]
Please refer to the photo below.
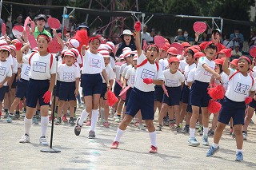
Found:
[[210, 101], [208, 87], [209, 83], [194, 81], [190, 89], [190, 104], [198, 107], [208, 107]]

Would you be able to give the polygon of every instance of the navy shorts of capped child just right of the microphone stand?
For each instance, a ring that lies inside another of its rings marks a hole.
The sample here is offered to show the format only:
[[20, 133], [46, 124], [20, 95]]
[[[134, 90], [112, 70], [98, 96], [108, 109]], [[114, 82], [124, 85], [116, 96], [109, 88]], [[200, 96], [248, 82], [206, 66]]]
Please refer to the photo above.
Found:
[[75, 101], [76, 97], [74, 94], [75, 81], [74, 82], [63, 82], [60, 81], [58, 99], [60, 101]]

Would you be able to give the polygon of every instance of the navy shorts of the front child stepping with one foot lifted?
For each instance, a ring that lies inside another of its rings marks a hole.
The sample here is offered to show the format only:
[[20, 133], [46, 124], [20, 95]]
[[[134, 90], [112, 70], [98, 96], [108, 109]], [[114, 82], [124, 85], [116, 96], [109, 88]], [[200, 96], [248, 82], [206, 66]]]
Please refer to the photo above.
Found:
[[101, 74], [82, 74], [82, 93], [86, 96], [102, 93]]

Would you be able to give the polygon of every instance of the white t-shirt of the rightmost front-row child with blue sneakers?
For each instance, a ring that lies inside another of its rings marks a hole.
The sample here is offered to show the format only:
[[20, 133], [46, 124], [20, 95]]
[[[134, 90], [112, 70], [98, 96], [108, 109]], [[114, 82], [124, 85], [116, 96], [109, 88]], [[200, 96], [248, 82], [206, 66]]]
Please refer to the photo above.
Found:
[[[230, 69], [230, 75], [228, 75], [228, 77], [230, 78], [235, 72], [236, 70]], [[252, 85], [252, 83], [253, 78], [250, 77], [249, 74], [244, 77], [242, 73], [236, 73], [230, 79], [230, 85], [228, 86], [225, 95], [231, 101], [245, 101], [246, 97], [249, 96], [250, 91], [255, 91], [255, 82], [254, 85]]]

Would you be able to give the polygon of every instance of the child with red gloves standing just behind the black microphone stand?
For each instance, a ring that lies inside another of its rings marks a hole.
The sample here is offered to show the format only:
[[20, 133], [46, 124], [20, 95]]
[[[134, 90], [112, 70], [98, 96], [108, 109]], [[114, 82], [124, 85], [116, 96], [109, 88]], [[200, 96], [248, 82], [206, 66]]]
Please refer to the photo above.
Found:
[[[20, 143], [30, 142], [30, 128], [32, 117], [36, 112], [37, 101], [41, 113], [41, 137], [39, 143], [48, 145], [46, 130], [49, 124], [49, 105], [52, 91], [54, 89], [56, 76], [56, 60], [48, 52], [50, 38], [46, 34], [39, 34], [37, 38], [39, 53], [30, 53], [22, 57], [22, 43], [16, 43], [18, 63], [30, 64], [30, 81], [26, 93], [26, 117], [24, 117], [25, 134], [19, 140]], [[23, 48], [26, 48], [25, 45]]]

